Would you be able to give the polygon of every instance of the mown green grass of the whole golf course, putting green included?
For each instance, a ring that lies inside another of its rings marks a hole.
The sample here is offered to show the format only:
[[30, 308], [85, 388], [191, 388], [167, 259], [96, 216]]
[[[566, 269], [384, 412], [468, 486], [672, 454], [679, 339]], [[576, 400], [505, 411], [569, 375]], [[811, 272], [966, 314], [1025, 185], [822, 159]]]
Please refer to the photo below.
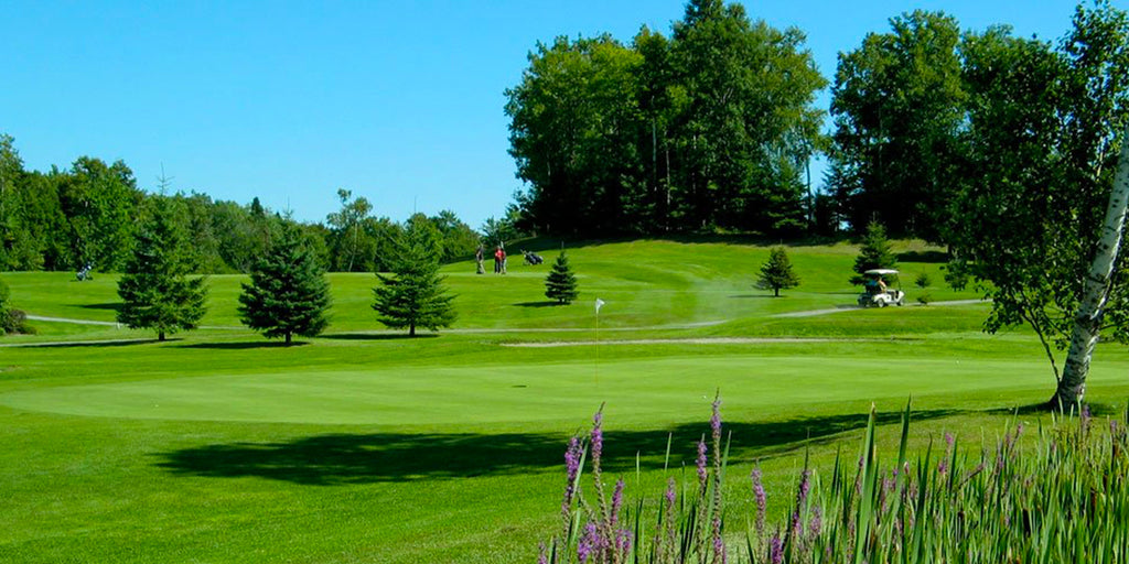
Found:
[[[0, 562], [532, 562], [557, 523], [567, 437], [603, 402], [610, 469], [631, 477], [629, 495], [651, 493], [668, 434], [681, 473], [720, 389], [734, 491], [747, 492], [761, 459], [770, 506], [784, 511], [798, 452], [828, 465], [840, 444], [855, 449], [872, 402], [889, 424], [912, 395], [920, 448], [942, 430], [994, 437], [1009, 409], [1052, 390], [1027, 332], [980, 333], [984, 305], [773, 317], [852, 303], [847, 245], [789, 248], [802, 285], [779, 299], [752, 288], [767, 247], [629, 241], [569, 254], [581, 296], [567, 307], [545, 305], [545, 266], [445, 266], [460, 319], [438, 337], [383, 332], [375, 276], [332, 274], [330, 333], [300, 346], [239, 328], [242, 276], [210, 279], [203, 325], [215, 328], [167, 343], [43, 321], [40, 335], [0, 340], [78, 342], [0, 347]], [[939, 266], [903, 262], [910, 301], [920, 291], [908, 281], [943, 280]], [[113, 321], [113, 275], [0, 279], [33, 315]], [[707, 341], [679, 342], [691, 337]], [[1127, 369], [1123, 347], [1101, 345], [1091, 400], [1123, 405]]]

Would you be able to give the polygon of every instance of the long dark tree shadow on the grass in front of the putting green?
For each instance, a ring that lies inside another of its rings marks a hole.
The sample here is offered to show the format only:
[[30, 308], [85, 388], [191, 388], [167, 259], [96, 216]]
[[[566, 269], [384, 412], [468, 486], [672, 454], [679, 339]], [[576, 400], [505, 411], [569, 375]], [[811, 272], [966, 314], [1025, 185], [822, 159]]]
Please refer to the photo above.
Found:
[[[922, 421], [953, 411], [914, 412]], [[898, 423], [898, 412], [878, 415], [881, 424]], [[730, 460], [786, 455], [807, 444], [830, 442], [839, 433], [863, 429], [867, 416], [834, 415], [767, 423], [727, 423], [733, 433]], [[698, 439], [709, 424], [679, 425], [669, 431], [607, 431], [604, 468], [612, 473], [664, 465], [667, 437], [673, 437], [671, 468], [693, 466]], [[548, 433], [371, 433], [303, 437], [288, 442], [209, 444], [160, 452], [156, 466], [182, 476], [278, 479], [306, 485], [447, 479], [528, 472], [557, 472], [567, 438]]]

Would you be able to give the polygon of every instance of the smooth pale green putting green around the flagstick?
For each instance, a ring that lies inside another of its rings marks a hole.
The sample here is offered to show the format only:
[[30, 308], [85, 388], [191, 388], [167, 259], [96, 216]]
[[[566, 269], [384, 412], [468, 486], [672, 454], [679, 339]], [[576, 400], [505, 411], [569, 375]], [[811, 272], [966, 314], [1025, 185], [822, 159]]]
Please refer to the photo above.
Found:
[[[896, 353], [898, 347], [891, 346]], [[797, 351], [798, 352], [798, 351]], [[1092, 382], [1117, 379], [1099, 368]], [[36, 388], [0, 395], [17, 409], [70, 415], [193, 421], [430, 426], [578, 421], [602, 402], [627, 421], [698, 421], [720, 389], [730, 413], [786, 411], [835, 402], [999, 395], [1047, 388], [1036, 361], [761, 356], [464, 368], [185, 377]]]

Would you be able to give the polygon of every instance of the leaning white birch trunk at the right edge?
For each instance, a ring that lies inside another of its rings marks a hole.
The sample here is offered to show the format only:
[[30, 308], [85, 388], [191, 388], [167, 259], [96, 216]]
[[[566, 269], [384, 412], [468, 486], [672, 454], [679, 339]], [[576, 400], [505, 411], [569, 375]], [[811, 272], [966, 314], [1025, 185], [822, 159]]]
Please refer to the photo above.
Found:
[[1102, 316], [1110, 296], [1110, 275], [1121, 250], [1121, 233], [1124, 229], [1126, 212], [1129, 211], [1129, 127], [1122, 136], [1118, 170], [1110, 192], [1110, 205], [1105, 210], [1102, 236], [1097, 241], [1094, 262], [1086, 275], [1085, 291], [1075, 316], [1070, 350], [1062, 367], [1062, 378], [1051, 398], [1051, 407], [1068, 411], [1082, 402], [1086, 393], [1086, 374], [1089, 360], [1101, 334]]

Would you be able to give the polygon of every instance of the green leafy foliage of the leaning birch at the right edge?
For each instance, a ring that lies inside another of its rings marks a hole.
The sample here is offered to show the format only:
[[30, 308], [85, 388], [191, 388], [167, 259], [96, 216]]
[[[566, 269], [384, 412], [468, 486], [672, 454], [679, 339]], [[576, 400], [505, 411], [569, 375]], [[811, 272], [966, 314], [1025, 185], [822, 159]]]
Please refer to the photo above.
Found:
[[[966, 39], [969, 180], [949, 210], [951, 272], [992, 299], [984, 329], [1030, 325], [1056, 379], [1129, 118], [1126, 12], [1099, 2], [1073, 23], [1057, 50], [1005, 28]], [[1110, 318], [1129, 308], [1127, 282], [1111, 285]]]

